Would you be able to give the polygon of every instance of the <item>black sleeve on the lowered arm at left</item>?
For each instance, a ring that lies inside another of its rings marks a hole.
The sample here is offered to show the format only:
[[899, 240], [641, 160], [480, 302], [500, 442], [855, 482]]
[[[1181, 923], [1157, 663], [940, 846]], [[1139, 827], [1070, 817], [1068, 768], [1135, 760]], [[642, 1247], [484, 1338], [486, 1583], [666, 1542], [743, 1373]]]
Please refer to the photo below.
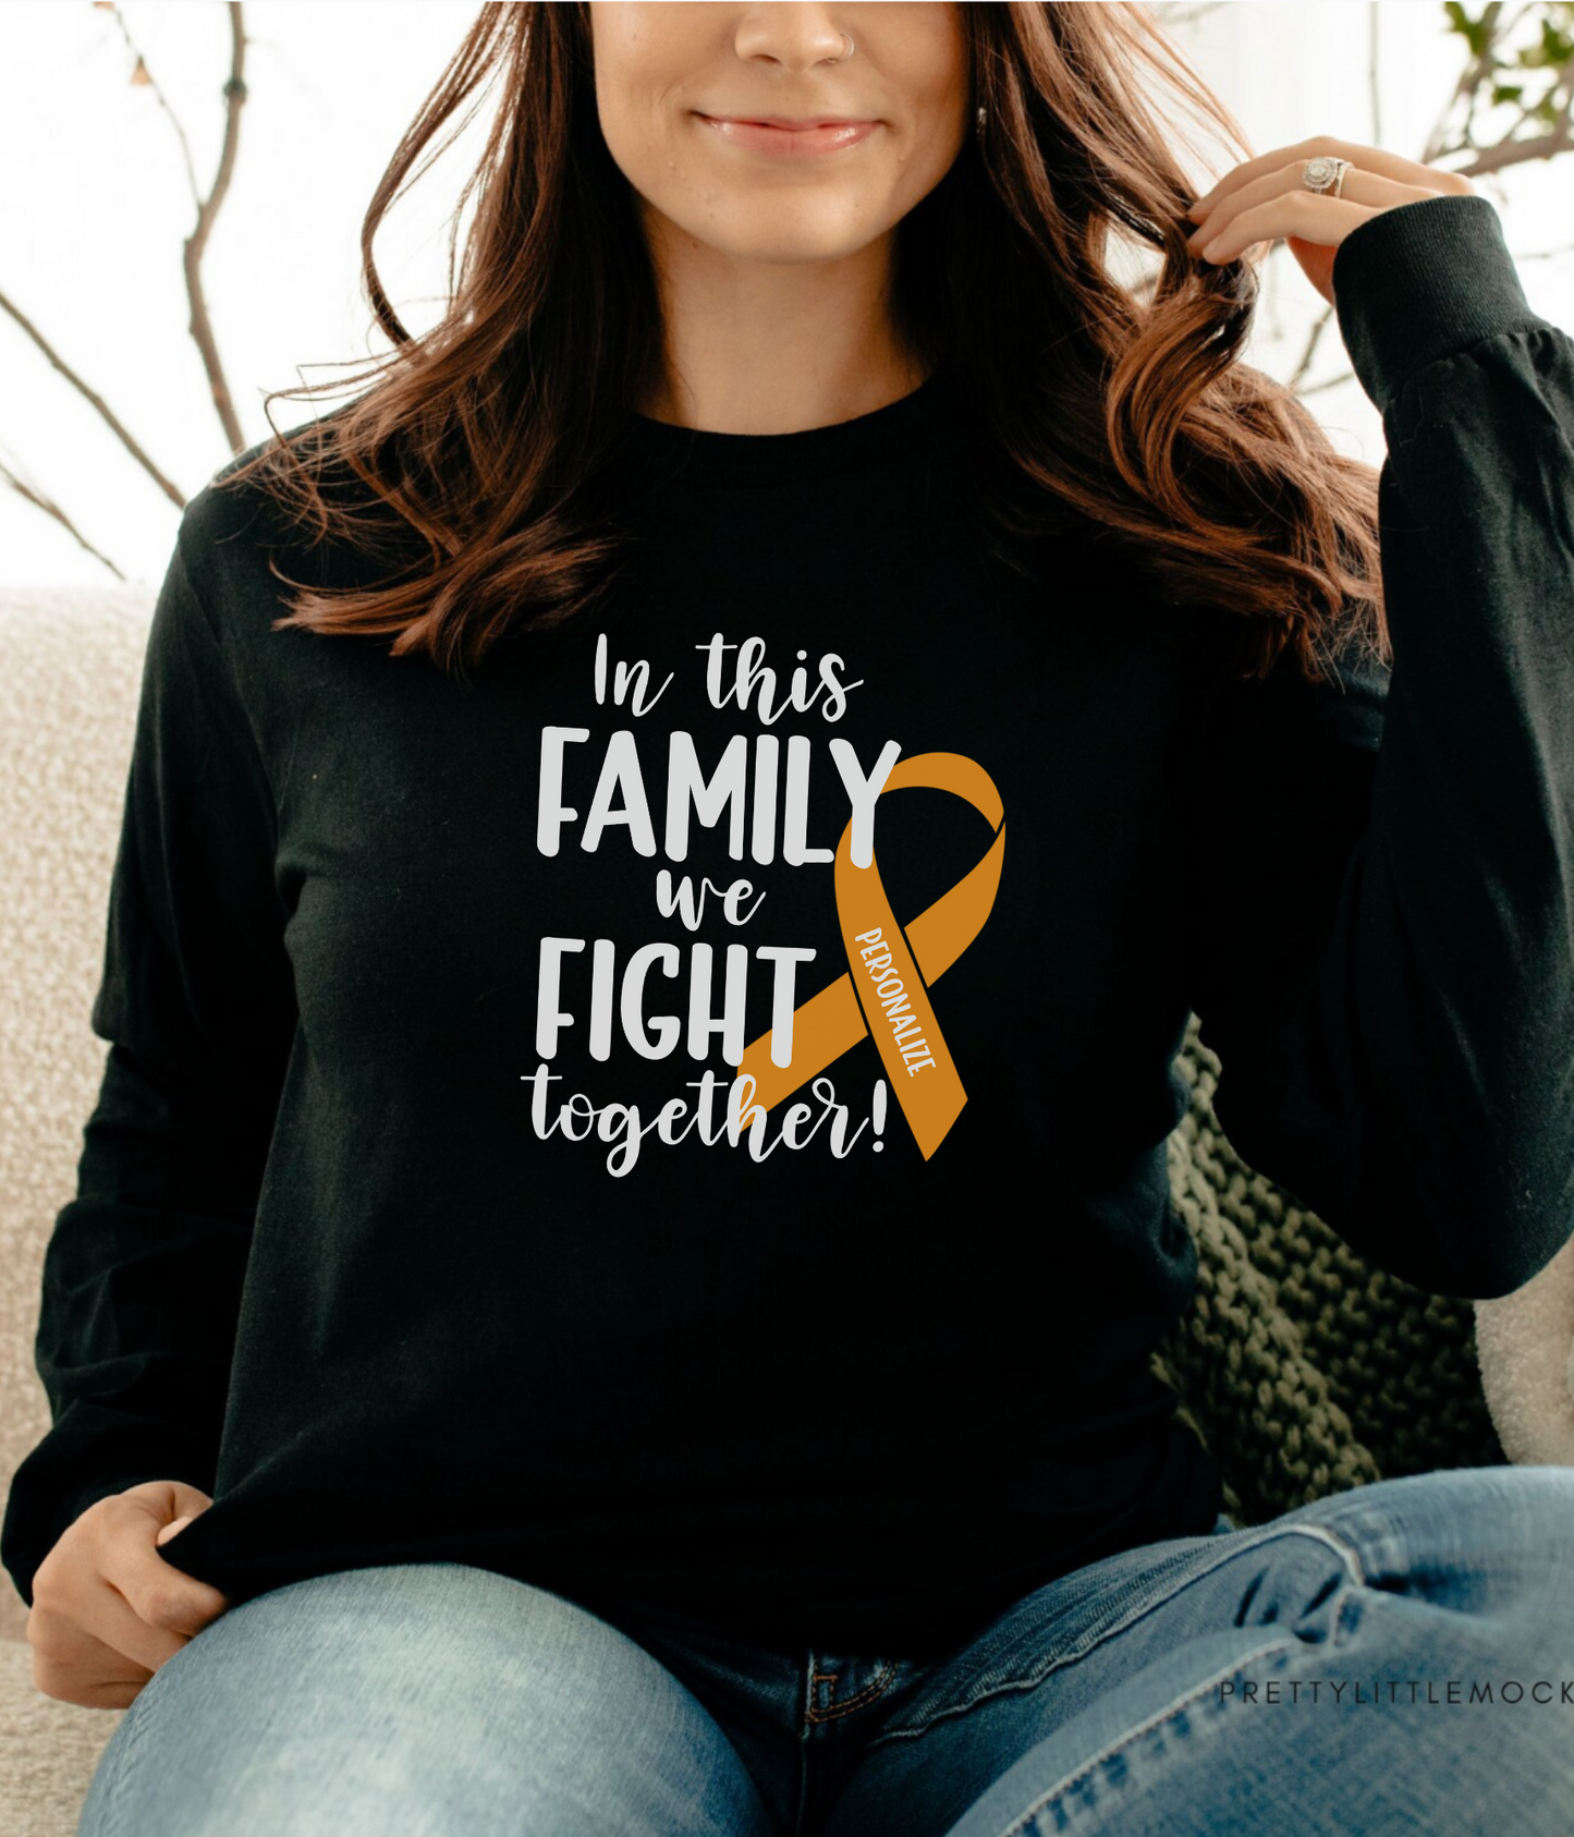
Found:
[[200, 502], [149, 628], [92, 1007], [108, 1053], [44, 1253], [35, 1363], [53, 1424], [13, 1475], [0, 1530], [29, 1606], [39, 1563], [96, 1499], [149, 1479], [213, 1490], [294, 1038], [275, 806], [187, 568]]

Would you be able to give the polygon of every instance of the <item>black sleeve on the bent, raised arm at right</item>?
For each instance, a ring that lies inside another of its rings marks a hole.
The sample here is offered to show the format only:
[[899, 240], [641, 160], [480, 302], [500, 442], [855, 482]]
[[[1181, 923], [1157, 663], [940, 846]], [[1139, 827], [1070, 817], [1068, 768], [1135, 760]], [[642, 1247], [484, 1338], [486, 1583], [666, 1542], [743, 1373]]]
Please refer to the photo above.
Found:
[[1190, 1001], [1238, 1154], [1480, 1301], [1574, 1233], [1574, 340], [1478, 195], [1365, 220], [1333, 287], [1392, 665], [1220, 693]]

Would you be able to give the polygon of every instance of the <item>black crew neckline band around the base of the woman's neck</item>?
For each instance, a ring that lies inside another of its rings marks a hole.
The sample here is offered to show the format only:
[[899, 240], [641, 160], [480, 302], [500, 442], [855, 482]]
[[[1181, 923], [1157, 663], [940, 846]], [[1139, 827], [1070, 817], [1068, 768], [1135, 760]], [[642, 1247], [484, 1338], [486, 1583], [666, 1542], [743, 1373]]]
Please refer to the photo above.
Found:
[[792, 434], [718, 434], [630, 411], [624, 450], [669, 476], [707, 485], [782, 485], [825, 478], [894, 457], [940, 417], [946, 388], [940, 364], [905, 395], [819, 428]]

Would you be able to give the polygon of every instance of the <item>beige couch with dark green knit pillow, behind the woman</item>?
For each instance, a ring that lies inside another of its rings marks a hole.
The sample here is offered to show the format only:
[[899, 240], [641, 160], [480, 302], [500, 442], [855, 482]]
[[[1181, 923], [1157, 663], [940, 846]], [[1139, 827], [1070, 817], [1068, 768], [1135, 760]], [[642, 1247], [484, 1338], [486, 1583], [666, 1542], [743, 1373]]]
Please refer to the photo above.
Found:
[[[48, 1427], [40, 1262], [103, 1069], [88, 1009], [151, 608], [143, 588], [0, 593], [0, 1484]], [[1574, 1462], [1574, 1244], [1504, 1301], [1407, 1288], [1234, 1155], [1196, 1021], [1177, 1064], [1192, 1100], [1170, 1178], [1201, 1273], [1153, 1365], [1220, 1457], [1236, 1523], [1390, 1473]], [[33, 1686], [0, 1576], [4, 1837], [72, 1837], [121, 1714]]]

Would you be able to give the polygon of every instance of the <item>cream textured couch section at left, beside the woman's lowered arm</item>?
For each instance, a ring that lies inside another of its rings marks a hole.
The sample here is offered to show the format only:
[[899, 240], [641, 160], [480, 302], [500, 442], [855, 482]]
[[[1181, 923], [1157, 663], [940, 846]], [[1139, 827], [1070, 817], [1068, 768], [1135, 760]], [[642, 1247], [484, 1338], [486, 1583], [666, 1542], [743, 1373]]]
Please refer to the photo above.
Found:
[[[88, 1014], [152, 599], [0, 595], [0, 1499], [50, 1426], [33, 1370], [39, 1277], [103, 1075]], [[33, 1686], [28, 1609], [0, 1583], [0, 1831], [70, 1837], [119, 1712]]]

